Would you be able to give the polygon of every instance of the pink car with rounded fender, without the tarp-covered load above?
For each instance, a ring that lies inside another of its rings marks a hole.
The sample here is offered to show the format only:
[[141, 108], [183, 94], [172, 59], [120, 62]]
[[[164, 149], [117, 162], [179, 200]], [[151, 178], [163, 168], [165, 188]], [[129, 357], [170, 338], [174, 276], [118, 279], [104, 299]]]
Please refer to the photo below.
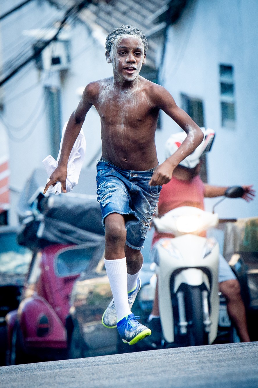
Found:
[[18, 310], [7, 314], [7, 364], [67, 358], [66, 317], [73, 282], [98, 251], [50, 245], [32, 257]]

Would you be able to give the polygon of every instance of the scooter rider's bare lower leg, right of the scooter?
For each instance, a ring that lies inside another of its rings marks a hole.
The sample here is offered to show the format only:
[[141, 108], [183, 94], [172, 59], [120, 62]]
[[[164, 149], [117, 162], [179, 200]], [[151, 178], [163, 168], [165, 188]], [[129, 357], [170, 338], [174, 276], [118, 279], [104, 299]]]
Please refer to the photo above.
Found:
[[246, 310], [240, 293], [240, 284], [236, 279], [219, 283], [219, 290], [227, 301], [227, 312], [236, 325], [238, 335], [242, 342], [249, 342], [246, 323]]

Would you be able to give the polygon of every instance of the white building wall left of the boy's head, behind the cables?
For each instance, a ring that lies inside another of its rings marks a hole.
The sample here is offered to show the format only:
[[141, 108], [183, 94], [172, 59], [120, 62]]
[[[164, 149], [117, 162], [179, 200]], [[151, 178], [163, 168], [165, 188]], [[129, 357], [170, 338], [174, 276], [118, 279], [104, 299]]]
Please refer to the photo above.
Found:
[[[1, 5], [0, 14], [12, 9], [18, 3], [19, 0], [10, 0], [5, 3], [5, 7]], [[51, 21], [61, 20], [63, 14], [63, 10], [57, 10], [48, 2], [31, 2], [4, 19], [1, 22], [3, 63], [17, 56], [23, 45], [32, 47], [32, 43], [36, 42], [36, 37], [26, 37], [24, 30], [49, 27]], [[61, 115], [62, 122], [65, 123], [79, 103], [77, 88], [85, 87], [90, 81], [112, 75], [112, 67], [108, 66], [105, 59], [104, 46], [91, 36], [85, 24], [78, 21], [73, 23], [69, 33], [71, 64], [68, 71], [61, 76], [58, 71], [39, 71], [32, 61], [3, 87], [4, 111], [0, 114], [9, 134], [10, 224], [17, 223], [16, 206], [19, 191], [32, 171], [43, 166], [42, 160], [51, 152], [44, 87], [46, 85], [60, 87]], [[28, 54], [32, 53], [31, 50]], [[87, 140], [85, 158], [87, 165], [101, 145], [100, 119], [94, 107], [87, 114], [84, 128]], [[42, 185], [45, 183], [42, 182]]]

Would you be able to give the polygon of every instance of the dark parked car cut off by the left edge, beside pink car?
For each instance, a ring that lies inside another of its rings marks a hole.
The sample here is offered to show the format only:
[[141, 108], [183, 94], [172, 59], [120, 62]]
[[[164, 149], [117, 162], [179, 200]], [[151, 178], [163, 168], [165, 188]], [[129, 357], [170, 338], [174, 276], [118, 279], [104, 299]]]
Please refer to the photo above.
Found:
[[17, 244], [17, 228], [0, 227], [0, 365], [5, 365], [5, 316], [15, 310], [31, 262], [32, 251]]

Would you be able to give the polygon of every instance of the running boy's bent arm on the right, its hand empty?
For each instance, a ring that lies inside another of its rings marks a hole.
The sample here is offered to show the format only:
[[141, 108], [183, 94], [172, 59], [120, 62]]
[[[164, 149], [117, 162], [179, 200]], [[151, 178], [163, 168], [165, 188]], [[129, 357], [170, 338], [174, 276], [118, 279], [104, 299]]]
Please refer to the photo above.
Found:
[[201, 144], [203, 132], [190, 116], [176, 105], [173, 97], [165, 88], [155, 85], [152, 95], [157, 106], [168, 114], [187, 134], [178, 150], [154, 171], [150, 186], [155, 186], [164, 185], [171, 180], [174, 168]]

